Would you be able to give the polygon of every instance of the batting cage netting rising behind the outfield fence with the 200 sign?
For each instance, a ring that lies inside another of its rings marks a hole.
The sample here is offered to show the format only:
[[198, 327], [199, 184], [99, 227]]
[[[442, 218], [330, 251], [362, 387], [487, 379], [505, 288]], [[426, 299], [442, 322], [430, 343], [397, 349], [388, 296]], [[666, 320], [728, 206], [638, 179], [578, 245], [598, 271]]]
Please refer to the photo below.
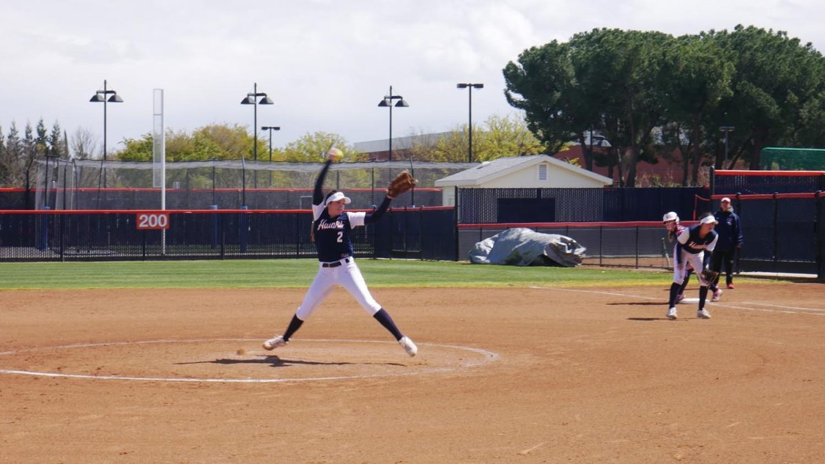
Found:
[[[309, 209], [321, 163], [167, 163], [166, 209]], [[441, 206], [435, 180], [463, 171], [470, 163], [359, 162], [330, 167], [325, 190], [344, 190], [355, 209], [380, 204], [386, 186], [407, 169], [416, 189], [395, 206]], [[161, 189], [153, 186], [152, 163], [40, 160], [35, 209], [161, 209]], [[2, 192], [0, 192], [2, 196]]]

